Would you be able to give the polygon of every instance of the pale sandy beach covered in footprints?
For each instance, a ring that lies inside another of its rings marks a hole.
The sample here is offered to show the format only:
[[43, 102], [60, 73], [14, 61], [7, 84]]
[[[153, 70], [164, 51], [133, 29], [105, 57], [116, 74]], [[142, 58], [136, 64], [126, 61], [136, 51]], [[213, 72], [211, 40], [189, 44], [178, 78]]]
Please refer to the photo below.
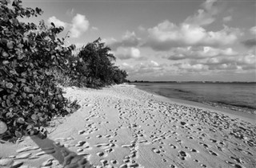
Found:
[[46, 139], [1, 141], [0, 167], [256, 167], [256, 115], [119, 84], [63, 88], [81, 108]]

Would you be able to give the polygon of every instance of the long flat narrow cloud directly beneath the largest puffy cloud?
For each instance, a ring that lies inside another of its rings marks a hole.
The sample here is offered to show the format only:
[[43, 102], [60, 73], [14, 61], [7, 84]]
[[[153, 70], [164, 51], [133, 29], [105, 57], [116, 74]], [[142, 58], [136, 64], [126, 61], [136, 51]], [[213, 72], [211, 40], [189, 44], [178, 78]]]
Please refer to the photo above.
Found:
[[231, 48], [216, 49], [210, 46], [203, 47], [187, 47], [171, 49], [168, 56], [164, 56], [169, 60], [183, 60], [183, 59], [204, 59], [207, 57], [219, 56], [234, 56], [238, 53]]

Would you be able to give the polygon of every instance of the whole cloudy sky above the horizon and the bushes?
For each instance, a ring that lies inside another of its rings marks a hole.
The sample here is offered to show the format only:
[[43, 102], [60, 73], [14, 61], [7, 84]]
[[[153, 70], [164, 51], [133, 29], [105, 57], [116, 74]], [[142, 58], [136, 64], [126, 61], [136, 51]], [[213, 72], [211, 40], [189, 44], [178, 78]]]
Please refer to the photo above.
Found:
[[128, 80], [256, 81], [253, 0], [23, 0], [77, 48], [101, 37]]

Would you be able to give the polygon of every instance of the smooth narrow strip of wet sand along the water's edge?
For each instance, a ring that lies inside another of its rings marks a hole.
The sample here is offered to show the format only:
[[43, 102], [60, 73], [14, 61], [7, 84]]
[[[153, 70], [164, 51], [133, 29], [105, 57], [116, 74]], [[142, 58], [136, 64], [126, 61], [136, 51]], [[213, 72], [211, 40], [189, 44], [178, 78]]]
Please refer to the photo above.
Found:
[[[131, 85], [131, 84], [130, 84]], [[134, 88], [138, 88], [135, 84]], [[210, 110], [210, 111], [218, 111], [222, 114], [227, 114], [230, 115], [231, 117], [241, 117], [242, 119], [246, 120], [246, 122], [250, 122], [250, 123], [256, 123], [256, 114], [250, 113], [250, 112], [245, 112], [245, 111], [234, 111], [230, 108], [225, 108], [225, 107], [215, 107], [212, 106], [210, 104], [203, 104], [201, 102], [196, 102], [196, 101], [191, 101], [191, 100], [181, 100], [181, 99], [175, 99], [175, 98], [171, 98], [171, 97], [167, 97], [167, 96], [163, 96], [161, 94], [158, 94], [157, 92], [150, 92], [150, 91], [146, 91], [142, 88], [138, 88], [139, 90], [142, 90], [143, 92], [147, 92], [149, 94], [153, 94], [155, 96], [162, 96], [163, 98], [170, 100], [171, 102], [177, 103], [177, 104], [182, 104], [182, 105], [189, 105], [189, 106], [194, 106], [194, 107], [201, 107], [204, 108], [206, 110]]]

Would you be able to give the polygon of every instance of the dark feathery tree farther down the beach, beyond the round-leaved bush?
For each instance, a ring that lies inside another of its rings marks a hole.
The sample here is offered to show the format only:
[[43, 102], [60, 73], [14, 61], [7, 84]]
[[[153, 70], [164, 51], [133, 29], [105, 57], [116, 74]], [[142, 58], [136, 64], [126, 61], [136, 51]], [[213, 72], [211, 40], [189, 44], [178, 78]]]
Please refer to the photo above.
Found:
[[115, 57], [111, 49], [98, 38], [82, 47], [78, 53], [76, 72], [80, 72], [87, 87], [99, 88], [110, 84], [121, 84], [127, 73], [114, 66]]

